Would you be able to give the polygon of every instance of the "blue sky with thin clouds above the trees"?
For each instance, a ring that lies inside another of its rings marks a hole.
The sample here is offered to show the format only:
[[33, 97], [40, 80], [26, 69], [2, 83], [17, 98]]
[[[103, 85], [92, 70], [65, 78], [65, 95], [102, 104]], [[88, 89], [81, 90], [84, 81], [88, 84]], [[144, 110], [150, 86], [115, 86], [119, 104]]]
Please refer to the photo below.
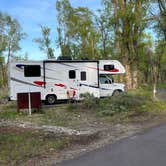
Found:
[[[101, 0], [70, 0], [73, 7], [83, 6], [95, 11], [101, 7]], [[46, 59], [34, 38], [41, 36], [39, 25], [51, 28], [52, 47], [55, 55], [60, 54], [59, 48], [55, 43], [57, 38], [56, 21], [56, 0], [0, 0], [0, 11], [9, 14], [12, 18], [19, 21], [27, 37], [21, 41], [21, 50], [18, 55], [28, 53], [28, 58], [32, 60]]]

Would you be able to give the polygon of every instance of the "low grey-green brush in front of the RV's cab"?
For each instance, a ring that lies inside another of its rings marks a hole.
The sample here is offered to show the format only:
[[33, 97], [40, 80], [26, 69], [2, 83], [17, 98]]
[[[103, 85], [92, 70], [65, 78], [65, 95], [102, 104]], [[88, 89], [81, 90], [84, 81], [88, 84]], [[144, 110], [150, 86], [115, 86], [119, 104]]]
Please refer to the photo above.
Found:
[[[82, 94], [83, 101], [79, 108], [87, 110], [96, 110], [98, 115], [112, 116], [118, 112], [128, 111], [143, 111], [146, 97], [135, 94], [119, 94], [104, 99], [96, 99], [93, 95], [86, 93]], [[72, 109], [76, 109], [73, 107]]]

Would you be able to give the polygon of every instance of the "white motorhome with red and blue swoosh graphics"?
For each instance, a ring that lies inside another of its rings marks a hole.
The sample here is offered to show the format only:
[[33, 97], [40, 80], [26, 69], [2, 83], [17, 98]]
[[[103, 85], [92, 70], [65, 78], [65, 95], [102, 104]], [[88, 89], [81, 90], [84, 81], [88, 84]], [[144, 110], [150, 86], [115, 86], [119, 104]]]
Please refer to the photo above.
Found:
[[17, 93], [40, 92], [42, 100], [54, 104], [56, 100], [80, 100], [82, 93], [99, 98], [124, 91], [124, 84], [110, 77], [125, 73], [117, 60], [13, 61], [9, 73], [11, 100], [17, 100]]

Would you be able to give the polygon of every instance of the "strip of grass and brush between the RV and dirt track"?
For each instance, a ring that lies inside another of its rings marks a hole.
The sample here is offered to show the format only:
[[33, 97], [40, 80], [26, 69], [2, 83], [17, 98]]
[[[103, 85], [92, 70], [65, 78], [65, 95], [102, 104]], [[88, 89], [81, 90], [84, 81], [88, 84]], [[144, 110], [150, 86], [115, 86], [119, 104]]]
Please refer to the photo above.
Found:
[[[87, 94], [88, 95], [88, 94]], [[151, 90], [140, 88], [115, 97], [95, 99], [86, 95], [80, 103], [59, 105], [43, 108], [42, 113], [35, 112], [32, 116], [21, 111], [17, 113], [15, 102], [0, 106], [0, 119], [28, 121], [39, 125], [57, 125], [77, 128], [94, 121], [129, 122], [143, 121], [154, 114], [165, 114], [166, 103], [154, 100]], [[118, 120], [120, 119], [120, 120]]]

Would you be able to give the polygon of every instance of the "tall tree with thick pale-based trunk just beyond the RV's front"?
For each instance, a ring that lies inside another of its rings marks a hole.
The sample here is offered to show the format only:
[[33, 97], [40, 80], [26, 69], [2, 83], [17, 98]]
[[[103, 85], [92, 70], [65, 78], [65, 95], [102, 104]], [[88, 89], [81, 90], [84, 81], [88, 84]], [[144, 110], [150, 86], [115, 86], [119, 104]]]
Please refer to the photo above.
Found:
[[148, 6], [147, 1], [140, 0], [104, 0], [107, 12], [113, 18], [115, 34], [114, 46], [119, 52], [119, 59], [126, 68], [126, 84], [128, 88], [138, 86], [139, 50], [141, 38], [146, 27], [144, 21]]

